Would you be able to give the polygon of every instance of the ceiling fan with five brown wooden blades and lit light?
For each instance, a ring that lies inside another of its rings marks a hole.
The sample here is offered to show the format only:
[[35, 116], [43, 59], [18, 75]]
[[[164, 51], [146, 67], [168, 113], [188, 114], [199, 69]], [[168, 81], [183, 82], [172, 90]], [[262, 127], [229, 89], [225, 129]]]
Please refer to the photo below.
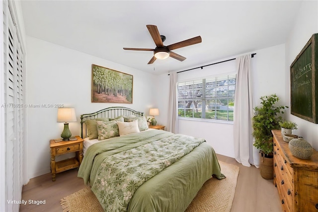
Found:
[[174, 43], [168, 46], [163, 45], [163, 41], [165, 40], [164, 35], [160, 35], [157, 26], [155, 25], [147, 25], [147, 28], [155, 41], [156, 48], [155, 49], [141, 49], [141, 48], [124, 48], [124, 50], [137, 50], [137, 51], [154, 51], [153, 58], [148, 62], [148, 64], [152, 64], [155, 62], [156, 59], [166, 59], [169, 56], [177, 59], [179, 61], [184, 61], [186, 58], [178, 55], [171, 50], [182, 48], [185, 46], [190, 46], [193, 44], [201, 43], [202, 39], [201, 36], [193, 37], [178, 43]]

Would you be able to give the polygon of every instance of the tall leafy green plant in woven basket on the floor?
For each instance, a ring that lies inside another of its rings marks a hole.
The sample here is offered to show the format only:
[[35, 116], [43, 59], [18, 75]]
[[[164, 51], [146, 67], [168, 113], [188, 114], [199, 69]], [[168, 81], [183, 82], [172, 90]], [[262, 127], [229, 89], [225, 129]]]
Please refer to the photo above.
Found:
[[253, 145], [260, 150], [260, 174], [265, 179], [273, 179], [273, 134], [272, 129], [279, 129], [280, 113], [285, 107], [275, 106], [279, 101], [276, 94], [261, 97], [262, 106], [254, 107], [252, 117]]

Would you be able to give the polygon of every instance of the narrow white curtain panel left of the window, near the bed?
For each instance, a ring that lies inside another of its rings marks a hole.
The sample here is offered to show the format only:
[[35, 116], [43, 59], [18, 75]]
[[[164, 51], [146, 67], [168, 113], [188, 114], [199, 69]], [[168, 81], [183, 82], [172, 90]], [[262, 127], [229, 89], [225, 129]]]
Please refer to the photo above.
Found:
[[168, 103], [167, 129], [170, 132], [178, 133], [178, 111], [177, 111], [177, 73], [170, 74], [170, 93]]

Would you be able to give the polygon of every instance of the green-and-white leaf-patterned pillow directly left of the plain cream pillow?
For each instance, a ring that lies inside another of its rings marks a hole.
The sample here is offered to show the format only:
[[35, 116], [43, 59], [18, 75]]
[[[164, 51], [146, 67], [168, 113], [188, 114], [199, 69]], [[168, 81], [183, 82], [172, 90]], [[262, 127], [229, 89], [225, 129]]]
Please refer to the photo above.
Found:
[[104, 140], [119, 135], [118, 125], [116, 120], [104, 122], [96, 121], [98, 140]]

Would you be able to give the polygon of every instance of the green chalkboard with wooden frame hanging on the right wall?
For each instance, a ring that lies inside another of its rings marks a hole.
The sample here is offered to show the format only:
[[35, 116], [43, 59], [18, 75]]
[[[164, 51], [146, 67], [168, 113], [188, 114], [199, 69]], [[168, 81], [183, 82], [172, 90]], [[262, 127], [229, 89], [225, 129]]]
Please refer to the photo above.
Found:
[[313, 34], [290, 66], [291, 113], [318, 123], [318, 34]]

